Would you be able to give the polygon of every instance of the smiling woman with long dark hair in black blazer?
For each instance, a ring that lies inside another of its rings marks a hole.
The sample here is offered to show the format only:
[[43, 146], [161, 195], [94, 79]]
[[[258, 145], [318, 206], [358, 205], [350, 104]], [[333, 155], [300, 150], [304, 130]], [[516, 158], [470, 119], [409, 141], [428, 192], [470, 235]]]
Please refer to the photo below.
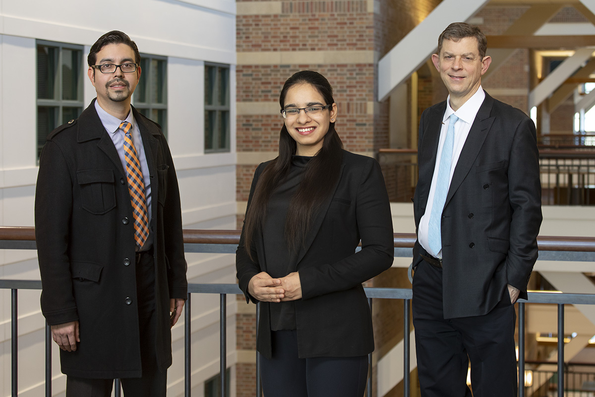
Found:
[[294, 74], [279, 102], [279, 155], [256, 168], [236, 252], [246, 302], [264, 302], [262, 386], [267, 397], [361, 397], [374, 350], [362, 282], [393, 262], [384, 179], [373, 158], [343, 151], [324, 76]]

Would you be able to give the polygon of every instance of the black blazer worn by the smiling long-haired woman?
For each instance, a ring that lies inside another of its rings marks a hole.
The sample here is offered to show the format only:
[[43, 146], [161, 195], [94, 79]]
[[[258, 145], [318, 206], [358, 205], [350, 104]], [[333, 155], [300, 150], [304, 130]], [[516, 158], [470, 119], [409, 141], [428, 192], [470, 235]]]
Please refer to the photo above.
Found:
[[[256, 183], [269, 162], [256, 168], [248, 205]], [[239, 286], [246, 301], [248, 283], [267, 271], [262, 234], [252, 247], [253, 262], [243, 243], [236, 252]], [[334, 194], [322, 205], [299, 252], [296, 268], [302, 299], [295, 302], [300, 358], [353, 357], [374, 350], [372, 318], [362, 282], [392, 265], [393, 227], [389, 197], [380, 165], [373, 158], [343, 151]], [[355, 253], [359, 240], [362, 249]], [[256, 349], [271, 357], [269, 305], [261, 303]]]

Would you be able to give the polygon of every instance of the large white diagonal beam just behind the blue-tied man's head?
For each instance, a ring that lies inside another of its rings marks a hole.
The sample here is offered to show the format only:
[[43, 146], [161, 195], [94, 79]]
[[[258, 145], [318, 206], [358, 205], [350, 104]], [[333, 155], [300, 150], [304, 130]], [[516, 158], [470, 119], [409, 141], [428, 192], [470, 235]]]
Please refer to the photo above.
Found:
[[466, 21], [488, 0], [443, 0], [378, 62], [378, 101], [389, 98], [436, 50], [438, 36], [450, 23]]

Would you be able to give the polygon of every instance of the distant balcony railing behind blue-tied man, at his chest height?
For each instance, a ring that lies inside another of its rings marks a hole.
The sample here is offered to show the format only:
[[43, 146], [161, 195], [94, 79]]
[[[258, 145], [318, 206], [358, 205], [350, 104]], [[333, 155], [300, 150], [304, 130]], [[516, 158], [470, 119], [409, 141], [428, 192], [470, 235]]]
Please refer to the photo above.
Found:
[[[417, 151], [380, 149], [378, 162], [390, 201], [410, 202], [418, 178]], [[539, 166], [542, 204], [595, 205], [595, 150], [542, 147]]]

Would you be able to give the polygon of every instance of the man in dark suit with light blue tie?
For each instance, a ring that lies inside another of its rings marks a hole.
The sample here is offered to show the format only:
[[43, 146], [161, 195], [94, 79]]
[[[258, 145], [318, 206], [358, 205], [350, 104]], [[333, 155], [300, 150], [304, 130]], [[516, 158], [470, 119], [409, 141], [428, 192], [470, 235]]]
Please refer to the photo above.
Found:
[[[486, 36], [453, 23], [432, 60], [449, 90], [421, 116], [413, 318], [421, 395], [516, 396], [514, 302], [537, 260], [536, 130], [481, 89]], [[522, 352], [521, 352], [522, 354]]]

